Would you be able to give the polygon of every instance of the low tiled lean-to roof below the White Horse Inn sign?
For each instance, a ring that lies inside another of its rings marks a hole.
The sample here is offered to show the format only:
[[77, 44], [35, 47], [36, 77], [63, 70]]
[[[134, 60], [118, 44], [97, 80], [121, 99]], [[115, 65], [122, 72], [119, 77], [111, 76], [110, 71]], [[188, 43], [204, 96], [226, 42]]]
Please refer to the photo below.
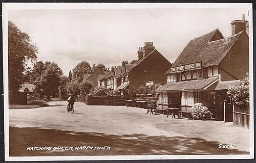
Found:
[[218, 77], [209, 77], [205, 79], [188, 80], [184, 82], [167, 83], [160, 86], [156, 91], [189, 91], [203, 90], [206, 86], [218, 81]]

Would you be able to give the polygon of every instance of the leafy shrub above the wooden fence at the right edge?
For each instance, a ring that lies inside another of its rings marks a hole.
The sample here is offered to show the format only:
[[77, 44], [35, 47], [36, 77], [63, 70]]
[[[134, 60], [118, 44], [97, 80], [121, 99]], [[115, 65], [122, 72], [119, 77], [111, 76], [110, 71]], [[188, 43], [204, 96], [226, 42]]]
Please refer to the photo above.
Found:
[[228, 89], [227, 94], [235, 104], [249, 106], [249, 74], [241, 80], [241, 86]]

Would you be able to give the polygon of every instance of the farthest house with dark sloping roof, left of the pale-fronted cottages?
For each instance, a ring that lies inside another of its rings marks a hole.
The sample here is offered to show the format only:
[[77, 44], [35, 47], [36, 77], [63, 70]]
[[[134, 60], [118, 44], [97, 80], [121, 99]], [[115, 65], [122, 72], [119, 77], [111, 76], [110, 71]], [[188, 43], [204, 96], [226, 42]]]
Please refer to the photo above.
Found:
[[84, 74], [83, 75], [83, 81], [89, 81], [92, 83], [92, 89], [94, 89], [95, 87], [98, 86], [98, 80], [99, 78], [102, 78], [103, 76], [106, 75], [107, 72], [105, 72], [103, 70], [103, 67], [98, 66], [95, 68], [95, 70], [93, 71], [93, 73], [91, 74]]

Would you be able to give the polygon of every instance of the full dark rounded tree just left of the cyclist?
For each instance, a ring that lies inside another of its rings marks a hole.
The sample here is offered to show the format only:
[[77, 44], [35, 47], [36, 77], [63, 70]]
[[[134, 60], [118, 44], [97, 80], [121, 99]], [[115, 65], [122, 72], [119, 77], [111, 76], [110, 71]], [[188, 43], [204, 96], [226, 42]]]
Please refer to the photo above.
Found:
[[58, 87], [61, 85], [62, 71], [54, 62], [46, 62], [40, 75], [37, 75], [34, 81], [36, 91], [51, 99], [52, 94], [58, 93]]

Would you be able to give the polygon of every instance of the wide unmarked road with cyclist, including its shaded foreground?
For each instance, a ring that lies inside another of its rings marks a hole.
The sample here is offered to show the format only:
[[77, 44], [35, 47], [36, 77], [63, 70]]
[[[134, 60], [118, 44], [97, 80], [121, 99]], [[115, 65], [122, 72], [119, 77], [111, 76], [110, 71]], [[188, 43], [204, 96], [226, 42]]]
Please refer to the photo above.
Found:
[[[149, 115], [126, 106], [88, 106], [66, 101], [9, 110], [10, 156], [249, 154], [249, 129], [220, 121]], [[219, 144], [234, 148], [219, 148]], [[28, 147], [108, 146], [110, 150], [27, 150]]]

